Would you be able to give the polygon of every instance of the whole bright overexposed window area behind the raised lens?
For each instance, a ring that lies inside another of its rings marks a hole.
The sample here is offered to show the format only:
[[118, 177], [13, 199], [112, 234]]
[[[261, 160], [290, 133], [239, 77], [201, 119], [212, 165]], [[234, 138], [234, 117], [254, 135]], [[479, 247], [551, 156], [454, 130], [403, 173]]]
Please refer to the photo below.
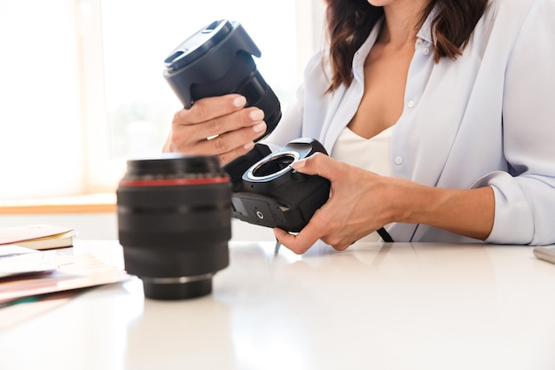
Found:
[[320, 46], [322, 9], [318, 0], [0, 3], [0, 199], [111, 192], [126, 159], [159, 154], [180, 109], [163, 60], [213, 20], [243, 25], [285, 109]]

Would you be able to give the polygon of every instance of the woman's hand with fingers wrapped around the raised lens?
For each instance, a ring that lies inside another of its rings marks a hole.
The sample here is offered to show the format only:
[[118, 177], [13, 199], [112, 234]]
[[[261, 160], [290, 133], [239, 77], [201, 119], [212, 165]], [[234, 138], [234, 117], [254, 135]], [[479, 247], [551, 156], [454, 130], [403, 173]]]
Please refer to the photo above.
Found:
[[266, 130], [264, 112], [238, 94], [202, 98], [174, 115], [163, 152], [216, 155], [222, 164], [246, 154]]

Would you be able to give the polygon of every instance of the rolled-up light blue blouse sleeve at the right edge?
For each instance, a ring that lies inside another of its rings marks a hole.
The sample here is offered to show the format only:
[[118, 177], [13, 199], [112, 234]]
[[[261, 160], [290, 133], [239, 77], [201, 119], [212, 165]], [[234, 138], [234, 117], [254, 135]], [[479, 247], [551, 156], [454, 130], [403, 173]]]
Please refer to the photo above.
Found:
[[555, 1], [536, 0], [505, 72], [504, 157], [475, 186], [494, 189], [493, 243], [555, 243]]

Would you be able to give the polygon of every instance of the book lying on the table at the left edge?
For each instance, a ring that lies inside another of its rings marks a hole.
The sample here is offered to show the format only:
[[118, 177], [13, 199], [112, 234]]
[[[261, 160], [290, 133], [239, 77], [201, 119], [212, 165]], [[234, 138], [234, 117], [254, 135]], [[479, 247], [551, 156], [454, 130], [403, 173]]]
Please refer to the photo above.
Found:
[[53, 224], [31, 224], [0, 228], [0, 248], [2, 245], [17, 244], [33, 249], [71, 247], [74, 230]]

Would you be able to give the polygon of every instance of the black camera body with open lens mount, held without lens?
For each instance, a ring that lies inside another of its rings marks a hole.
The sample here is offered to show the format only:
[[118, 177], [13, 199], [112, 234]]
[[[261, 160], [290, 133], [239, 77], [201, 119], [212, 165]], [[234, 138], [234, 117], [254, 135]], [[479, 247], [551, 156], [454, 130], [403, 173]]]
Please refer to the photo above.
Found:
[[328, 200], [330, 182], [293, 169], [315, 153], [327, 154], [313, 138], [298, 138], [256, 161], [233, 181], [232, 214], [249, 224], [300, 232]]

